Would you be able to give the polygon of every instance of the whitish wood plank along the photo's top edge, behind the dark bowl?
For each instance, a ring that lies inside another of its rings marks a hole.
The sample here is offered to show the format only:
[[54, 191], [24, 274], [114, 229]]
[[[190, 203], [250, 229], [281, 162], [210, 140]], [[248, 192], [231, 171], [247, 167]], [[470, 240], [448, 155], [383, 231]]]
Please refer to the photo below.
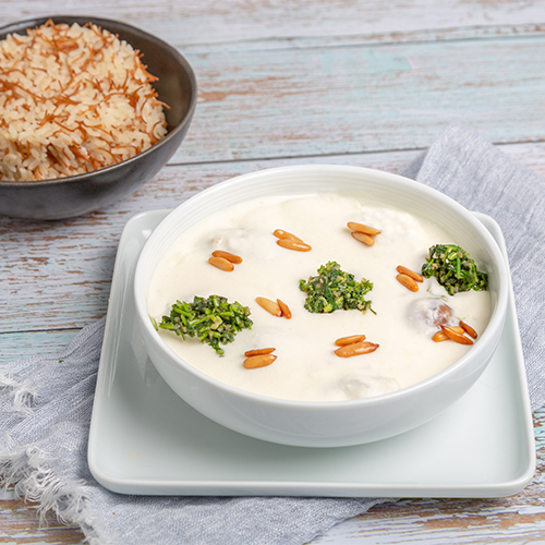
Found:
[[[306, 0], [292, 2], [217, 2], [216, 0], [95, 0], [56, 5], [53, 1], [4, 0], [0, 24], [51, 15], [57, 13], [87, 15], [99, 13], [107, 19], [119, 19], [153, 32], [177, 46], [216, 49], [235, 44], [238, 49], [254, 41], [259, 45], [284, 44], [286, 40], [306, 39], [324, 45], [340, 36], [375, 36], [374, 39], [399, 40], [404, 34], [419, 39], [421, 31], [436, 29], [476, 35], [494, 26], [501, 32], [526, 32], [545, 23], [544, 7], [540, 0], [502, 0], [500, 2], [407, 2], [403, 0], [366, 1]], [[468, 31], [471, 27], [473, 29]], [[507, 28], [510, 28], [507, 31]], [[436, 36], [443, 39], [445, 35]], [[298, 44], [300, 44], [298, 41]], [[277, 47], [277, 46], [272, 46]]]

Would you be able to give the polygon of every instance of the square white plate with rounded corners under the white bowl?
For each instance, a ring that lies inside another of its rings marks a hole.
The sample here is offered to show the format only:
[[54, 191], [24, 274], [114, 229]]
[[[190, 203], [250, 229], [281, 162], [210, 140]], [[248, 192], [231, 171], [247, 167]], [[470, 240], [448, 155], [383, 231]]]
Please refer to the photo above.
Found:
[[[134, 266], [167, 214], [134, 216], [119, 244], [88, 445], [90, 471], [102, 486], [145, 495], [495, 497], [532, 479], [533, 424], [512, 292], [485, 373], [414, 431], [355, 447], [299, 448], [202, 416], [159, 376], [134, 318]], [[476, 217], [506, 253], [497, 223]]]

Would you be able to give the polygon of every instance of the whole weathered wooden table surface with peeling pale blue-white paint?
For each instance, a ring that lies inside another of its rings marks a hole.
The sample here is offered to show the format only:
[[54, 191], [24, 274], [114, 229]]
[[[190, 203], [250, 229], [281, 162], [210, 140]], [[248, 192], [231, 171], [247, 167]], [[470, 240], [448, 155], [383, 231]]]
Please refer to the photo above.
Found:
[[[2, 0], [0, 24], [73, 13], [119, 19], [178, 47], [198, 80], [194, 121], [141, 190], [85, 217], [0, 218], [0, 363], [58, 352], [104, 316], [121, 230], [262, 168], [330, 162], [400, 172], [452, 121], [545, 175], [543, 0]], [[66, 8], [68, 5], [68, 8]], [[409, 499], [314, 543], [545, 543], [545, 411], [537, 470], [499, 499]], [[82, 543], [0, 497], [0, 543]]]

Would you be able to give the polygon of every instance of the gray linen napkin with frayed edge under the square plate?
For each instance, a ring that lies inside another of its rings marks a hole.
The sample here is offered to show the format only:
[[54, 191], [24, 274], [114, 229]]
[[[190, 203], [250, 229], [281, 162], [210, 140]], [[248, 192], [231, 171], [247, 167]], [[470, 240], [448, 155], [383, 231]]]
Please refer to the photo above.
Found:
[[[545, 181], [476, 133], [452, 125], [407, 172], [508, 234], [532, 408], [545, 401]], [[0, 374], [0, 482], [80, 525], [89, 543], [114, 545], [302, 544], [383, 499], [124, 496], [102, 488], [86, 462], [104, 319], [55, 356], [26, 358]]]

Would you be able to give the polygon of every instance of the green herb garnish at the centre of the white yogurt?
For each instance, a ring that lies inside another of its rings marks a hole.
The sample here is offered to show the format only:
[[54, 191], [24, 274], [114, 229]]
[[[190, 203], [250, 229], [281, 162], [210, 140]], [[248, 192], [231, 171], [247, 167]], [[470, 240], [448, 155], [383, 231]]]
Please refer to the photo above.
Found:
[[310, 277], [306, 282], [300, 280], [299, 288], [306, 292], [304, 307], [312, 313], [371, 308], [371, 301], [364, 295], [373, 289], [373, 283], [365, 278], [356, 282], [354, 275], [341, 270], [336, 262], [322, 265], [318, 276]]

